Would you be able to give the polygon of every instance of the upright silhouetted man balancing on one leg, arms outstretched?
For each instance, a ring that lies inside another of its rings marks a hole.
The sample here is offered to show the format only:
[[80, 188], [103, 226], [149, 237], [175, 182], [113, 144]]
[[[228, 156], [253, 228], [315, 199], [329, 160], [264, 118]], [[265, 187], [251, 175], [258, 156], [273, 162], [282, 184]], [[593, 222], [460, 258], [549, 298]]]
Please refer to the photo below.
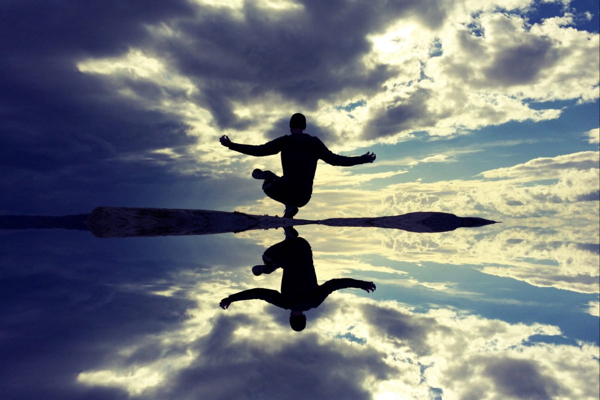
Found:
[[252, 177], [264, 179], [263, 191], [273, 200], [286, 206], [284, 218], [292, 218], [298, 213], [298, 207], [305, 206], [313, 194], [314, 173], [317, 161], [323, 160], [332, 166], [350, 167], [357, 164], [373, 163], [375, 154], [367, 152], [357, 157], [346, 157], [332, 153], [318, 137], [304, 133], [306, 118], [300, 113], [290, 118], [290, 134], [278, 137], [264, 145], [241, 145], [233, 143], [223, 135], [221, 145], [240, 153], [262, 157], [281, 152], [283, 176], [271, 171], [255, 169]]

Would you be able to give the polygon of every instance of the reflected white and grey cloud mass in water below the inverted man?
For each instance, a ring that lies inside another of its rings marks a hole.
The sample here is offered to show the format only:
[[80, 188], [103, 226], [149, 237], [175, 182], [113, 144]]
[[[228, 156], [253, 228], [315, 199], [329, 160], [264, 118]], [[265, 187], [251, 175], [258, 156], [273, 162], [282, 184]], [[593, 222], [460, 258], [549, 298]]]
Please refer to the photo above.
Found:
[[[199, 282], [197, 307], [178, 332], [148, 335], [135, 349], [118, 349], [104, 368], [82, 372], [79, 382], [118, 386], [148, 399], [596, 394], [598, 347], [528, 342], [535, 335], [560, 335], [555, 326], [451, 309], [419, 313], [393, 300], [345, 293], [323, 305], [319, 318], [296, 338], [260, 302], [223, 314], [211, 306], [214, 290]], [[154, 357], [131, 357], [140, 348]]]

